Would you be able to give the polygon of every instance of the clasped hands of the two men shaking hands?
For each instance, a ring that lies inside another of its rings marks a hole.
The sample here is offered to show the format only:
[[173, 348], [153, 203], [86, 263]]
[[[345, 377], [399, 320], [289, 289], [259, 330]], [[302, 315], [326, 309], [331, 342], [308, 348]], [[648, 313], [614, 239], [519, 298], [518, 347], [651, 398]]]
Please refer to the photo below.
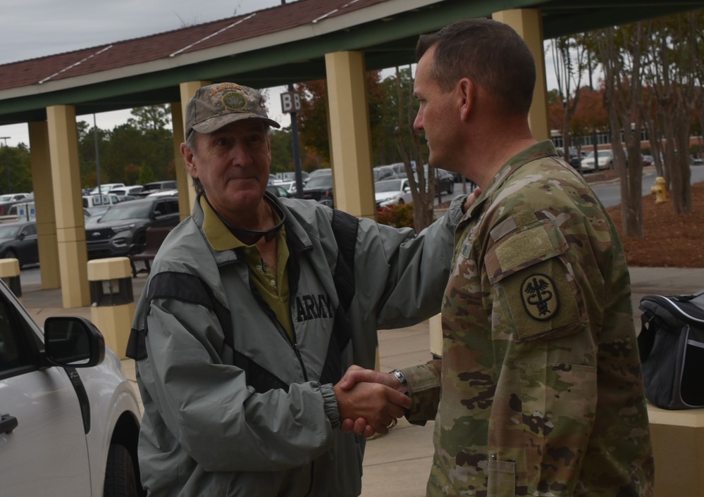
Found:
[[407, 386], [392, 373], [350, 366], [334, 386], [342, 432], [369, 437], [387, 434], [411, 407]]

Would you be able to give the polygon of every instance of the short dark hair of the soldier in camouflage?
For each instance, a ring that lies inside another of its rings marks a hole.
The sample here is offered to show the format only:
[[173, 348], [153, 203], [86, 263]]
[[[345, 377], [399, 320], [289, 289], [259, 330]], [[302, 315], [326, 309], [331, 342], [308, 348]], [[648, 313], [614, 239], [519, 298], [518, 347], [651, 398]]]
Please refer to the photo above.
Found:
[[424, 34], [416, 58], [435, 46], [431, 77], [449, 92], [467, 77], [493, 95], [507, 115], [525, 115], [533, 101], [536, 64], [526, 42], [510, 26], [479, 18], [460, 20]]

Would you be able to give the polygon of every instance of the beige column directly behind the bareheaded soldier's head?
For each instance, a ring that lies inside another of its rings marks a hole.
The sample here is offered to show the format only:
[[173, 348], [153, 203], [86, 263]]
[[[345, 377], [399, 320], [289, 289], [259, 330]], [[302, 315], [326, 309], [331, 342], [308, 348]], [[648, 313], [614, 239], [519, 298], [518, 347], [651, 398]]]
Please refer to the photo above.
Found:
[[521, 8], [495, 12], [494, 20], [510, 25], [521, 38], [536, 60], [536, 89], [533, 91], [533, 105], [528, 116], [533, 137], [538, 140], [550, 139], [548, 118], [548, 87], [545, 84], [545, 55], [543, 52], [543, 16], [536, 8]]

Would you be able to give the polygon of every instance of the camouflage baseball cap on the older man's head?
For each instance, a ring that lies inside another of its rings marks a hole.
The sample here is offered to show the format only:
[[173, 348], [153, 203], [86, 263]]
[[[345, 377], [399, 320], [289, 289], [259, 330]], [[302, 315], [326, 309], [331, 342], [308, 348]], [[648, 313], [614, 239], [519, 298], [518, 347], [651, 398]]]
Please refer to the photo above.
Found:
[[199, 88], [186, 106], [186, 137], [196, 130], [211, 133], [245, 119], [257, 119], [273, 127], [281, 125], [266, 115], [261, 94], [235, 83], [209, 84]]

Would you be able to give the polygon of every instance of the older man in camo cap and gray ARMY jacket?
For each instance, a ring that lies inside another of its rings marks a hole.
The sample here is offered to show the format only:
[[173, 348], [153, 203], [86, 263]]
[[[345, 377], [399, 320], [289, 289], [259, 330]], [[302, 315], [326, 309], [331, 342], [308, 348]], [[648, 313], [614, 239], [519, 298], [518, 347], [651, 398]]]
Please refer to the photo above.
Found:
[[186, 110], [192, 216], [154, 260], [130, 352], [151, 496], [357, 496], [364, 440], [408, 407], [379, 384], [378, 327], [437, 313], [463, 198], [420, 234], [266, 193], [269, 119], [254, 89], [198, 90]]

